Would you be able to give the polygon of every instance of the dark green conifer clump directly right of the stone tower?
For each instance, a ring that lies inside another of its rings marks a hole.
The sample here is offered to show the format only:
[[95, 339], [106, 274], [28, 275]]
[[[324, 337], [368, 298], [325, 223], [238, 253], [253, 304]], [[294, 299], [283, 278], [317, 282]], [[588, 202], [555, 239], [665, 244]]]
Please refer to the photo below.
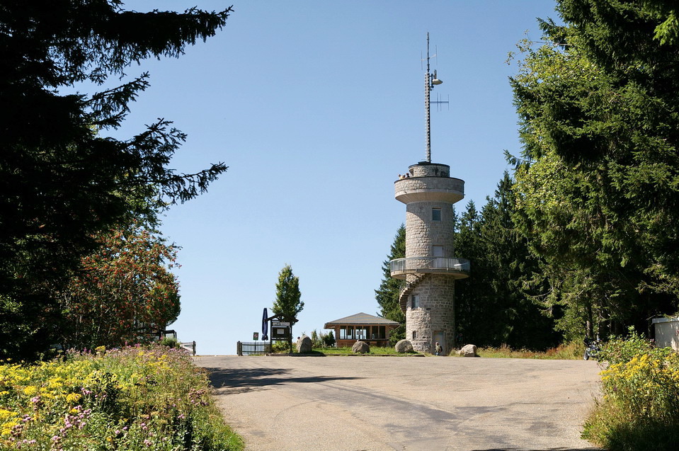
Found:
[[457, 223], [455, 253], [472, 263], [471, 276], [455, 285], [457, 331], [477, 346], [545, 349], [560, 336], [533, 300], [542, 286], [527, 287], [539, 266], [515, 229], [512, 186], [505, 173], [481, 212], [469, 201]]

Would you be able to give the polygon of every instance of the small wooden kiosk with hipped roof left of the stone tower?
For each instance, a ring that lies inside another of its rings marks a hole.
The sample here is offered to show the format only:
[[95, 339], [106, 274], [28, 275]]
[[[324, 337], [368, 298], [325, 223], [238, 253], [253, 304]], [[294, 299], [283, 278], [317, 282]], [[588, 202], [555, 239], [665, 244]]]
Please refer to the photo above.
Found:
[[389, 346], [389, 333], [400, 324], [380, 316], [357, 313], [346, 318], [330, 321], [324, 329], [333, 329], [338, 348], [353, 346], [356, 341], [365, 341], [370, 346]]

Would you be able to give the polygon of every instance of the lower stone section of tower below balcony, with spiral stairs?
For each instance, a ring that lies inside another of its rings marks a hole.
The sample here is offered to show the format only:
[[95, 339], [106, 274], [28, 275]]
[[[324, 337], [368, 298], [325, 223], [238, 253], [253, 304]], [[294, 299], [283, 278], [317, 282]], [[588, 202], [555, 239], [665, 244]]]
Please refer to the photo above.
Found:
[[418, 280], [406, 306], [406, 339], [420, 353], [433, 353], [437, 341], [443, 355], [455, 348], [455, 278], [427, 274]]

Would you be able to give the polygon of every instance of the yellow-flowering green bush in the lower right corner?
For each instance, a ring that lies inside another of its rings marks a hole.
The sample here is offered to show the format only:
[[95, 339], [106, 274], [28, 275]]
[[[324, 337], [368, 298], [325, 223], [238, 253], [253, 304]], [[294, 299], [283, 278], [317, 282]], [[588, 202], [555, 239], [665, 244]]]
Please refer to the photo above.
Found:
[[600, 353], [603, 399], [583, 438], [608, 450], [676, 450], [679, 445], [679, 355], [653, 348], [630, 330]]

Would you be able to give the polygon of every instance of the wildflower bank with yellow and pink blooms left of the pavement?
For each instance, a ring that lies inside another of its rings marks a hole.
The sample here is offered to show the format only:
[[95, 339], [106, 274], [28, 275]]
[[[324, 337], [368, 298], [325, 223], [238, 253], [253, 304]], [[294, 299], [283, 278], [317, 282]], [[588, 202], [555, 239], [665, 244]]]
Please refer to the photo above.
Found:
[[207, 375], [165, 346], [0, 365], [0, 449], [241, 450]]

